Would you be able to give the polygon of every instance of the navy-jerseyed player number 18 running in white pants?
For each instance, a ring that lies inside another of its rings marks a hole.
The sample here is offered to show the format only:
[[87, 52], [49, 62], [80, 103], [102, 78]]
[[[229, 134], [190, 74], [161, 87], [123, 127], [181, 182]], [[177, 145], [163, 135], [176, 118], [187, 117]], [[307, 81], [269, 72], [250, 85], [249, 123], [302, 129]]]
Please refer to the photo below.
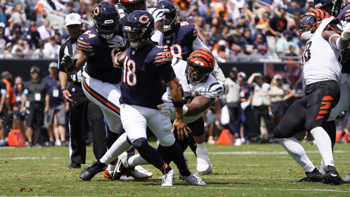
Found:
[[[124, 37], [131, 48], [127, 49], [122, 73], [120, 102], [123, 128], [141, 157], [162, 171], [162, 186], [173, 184], [174, 171], [160, 158], [158, 151], [147, 143], [147, 125], [159, 140], [162, 151], [172, 155], [179, 169], [179, 178], [193, 185], [206, 185], [188, 170], [181, 147], [175, 142], [172, 129], [186, 135], [191, 130], [183, 117], [184, 101], [171, 66], [171, 53], [151, 41], [154, 31], [154, 18], [145, 11], [131, 13], [125, 22]], [[157, 110], [157, 105], [163, 103], [162, 81], [173, 95], [176, 110], [173, 126], [170, 119]]]

